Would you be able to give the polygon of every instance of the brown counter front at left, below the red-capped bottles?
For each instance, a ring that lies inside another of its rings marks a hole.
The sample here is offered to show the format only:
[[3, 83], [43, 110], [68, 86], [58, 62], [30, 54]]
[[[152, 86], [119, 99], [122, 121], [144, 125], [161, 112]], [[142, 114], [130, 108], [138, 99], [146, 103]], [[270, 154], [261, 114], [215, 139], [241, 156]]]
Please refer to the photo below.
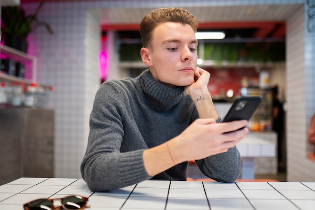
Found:
[[52, 109], [0, 108], [0, 185], [53, 176], [54, 123]]

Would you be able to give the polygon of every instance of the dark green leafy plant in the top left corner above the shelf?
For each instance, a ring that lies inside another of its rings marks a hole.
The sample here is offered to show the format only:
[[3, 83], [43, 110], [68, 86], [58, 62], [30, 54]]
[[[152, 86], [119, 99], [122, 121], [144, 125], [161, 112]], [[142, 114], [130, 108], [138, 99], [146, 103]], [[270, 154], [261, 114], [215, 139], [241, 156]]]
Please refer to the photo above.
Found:
[[45, 21], [37, 18], [38, 12], [43, 6], [42, 0], [33, 15], [25, 15], [25, 11], [21, 6], [2, 7], [2, 25], [1, 30], [5, 34], [15, 35], [22, 40], [26, 40], [28, 35], [40, 26], [44, 26], [50, 34], [55, 32]]

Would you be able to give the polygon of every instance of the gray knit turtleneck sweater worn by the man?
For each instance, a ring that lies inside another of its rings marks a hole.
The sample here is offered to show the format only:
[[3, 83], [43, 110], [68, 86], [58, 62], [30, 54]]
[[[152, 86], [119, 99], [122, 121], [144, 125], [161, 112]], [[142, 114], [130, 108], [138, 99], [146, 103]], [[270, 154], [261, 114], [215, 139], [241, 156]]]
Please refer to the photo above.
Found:
[[[129, 186], [148, 179], [186, 180], [188, 162], [150, 177], [142, 153], [179, 135], [198, 118], [184, 88], [168, 88], [144, 71], [135, 79], [112, 80], [98, 90], [81, 174], [92, 191]], [[233, 182], [240, 175], [237, 148], [196, 161], [206, 176]]]

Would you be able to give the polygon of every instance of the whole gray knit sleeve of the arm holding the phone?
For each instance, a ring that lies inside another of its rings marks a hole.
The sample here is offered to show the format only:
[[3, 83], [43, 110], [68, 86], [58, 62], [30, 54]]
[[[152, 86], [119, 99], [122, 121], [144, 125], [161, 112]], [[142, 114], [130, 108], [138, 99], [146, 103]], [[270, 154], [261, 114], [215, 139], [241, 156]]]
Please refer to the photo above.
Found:
[[123, 122], [121, 90], [102, 85], [90, 116], [90, 133], [81, 174], [91, 191], [117, 189], [151, 178], [145, 171], [142, 154], [146, 149], [121, 152]]

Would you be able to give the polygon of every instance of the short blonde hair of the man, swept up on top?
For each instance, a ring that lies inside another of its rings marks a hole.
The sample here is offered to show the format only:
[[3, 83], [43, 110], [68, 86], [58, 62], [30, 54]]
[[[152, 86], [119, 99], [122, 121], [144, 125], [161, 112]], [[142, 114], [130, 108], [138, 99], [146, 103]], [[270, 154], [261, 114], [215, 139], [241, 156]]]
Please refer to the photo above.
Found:
[[182, 8], [161, 8], [147, 14], [140, 23], [140, 34], [143, 47], [149, 47], [154, 28], [166, 22], [189, 24], [197, 32], [198, 21], [189, 12]]

